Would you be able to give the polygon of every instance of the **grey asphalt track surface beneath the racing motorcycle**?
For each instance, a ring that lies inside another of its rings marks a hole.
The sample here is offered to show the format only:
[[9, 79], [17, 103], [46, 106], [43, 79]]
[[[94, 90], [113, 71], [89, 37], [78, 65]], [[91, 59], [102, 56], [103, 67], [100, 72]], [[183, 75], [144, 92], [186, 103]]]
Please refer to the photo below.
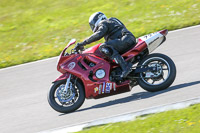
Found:
[[166, 54], [176, 64], [176, 80], [167, 90], [150, 93], [136, 86], [86, 100], [70, 114], [54, 111], [47, 102], [51, 82], [60, 75], [56, 57], [0, 69], [0, 132], [39, 132], [200, 97], [200, 26], [170, 32], [154, 53]]

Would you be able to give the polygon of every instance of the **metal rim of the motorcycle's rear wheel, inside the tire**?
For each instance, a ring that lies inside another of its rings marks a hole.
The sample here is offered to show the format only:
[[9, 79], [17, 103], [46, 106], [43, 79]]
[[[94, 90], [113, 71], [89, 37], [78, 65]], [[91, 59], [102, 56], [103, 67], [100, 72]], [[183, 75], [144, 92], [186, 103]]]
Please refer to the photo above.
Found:
[[160, 85], [164, 83], [170, 75], [170, 65], [169, 63], [160, 57], [152, 57], [146, 60], [142, 64], [143, 66], [148, 66], [148, 67], [157, 67], [156, 72], [143, 72], [140, 73], [140, 78], [148, 85]]

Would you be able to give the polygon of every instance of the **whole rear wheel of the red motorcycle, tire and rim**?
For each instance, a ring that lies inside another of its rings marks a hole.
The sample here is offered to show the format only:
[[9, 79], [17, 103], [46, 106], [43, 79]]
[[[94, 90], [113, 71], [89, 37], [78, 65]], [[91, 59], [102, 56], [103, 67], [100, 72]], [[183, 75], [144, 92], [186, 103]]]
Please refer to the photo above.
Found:
[[145, 57], [138, 63], [140, 68], [151, 67], [149, 70], [139, 74], [138, 84], [149, 92], [167, 89], [175, 80], [176, 66], [166, 55], [155, 53]]

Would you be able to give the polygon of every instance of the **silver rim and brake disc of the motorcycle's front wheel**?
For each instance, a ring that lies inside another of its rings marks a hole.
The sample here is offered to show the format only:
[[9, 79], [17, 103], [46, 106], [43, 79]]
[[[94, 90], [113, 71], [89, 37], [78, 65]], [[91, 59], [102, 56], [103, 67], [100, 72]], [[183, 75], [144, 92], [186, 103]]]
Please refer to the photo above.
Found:
[[70, 82], [70, 88], [65, 91], [65, 84], [59, 85], [54, 92], [55, 102], [62, 107], [74, 105], [79, 99], [79, 90]]

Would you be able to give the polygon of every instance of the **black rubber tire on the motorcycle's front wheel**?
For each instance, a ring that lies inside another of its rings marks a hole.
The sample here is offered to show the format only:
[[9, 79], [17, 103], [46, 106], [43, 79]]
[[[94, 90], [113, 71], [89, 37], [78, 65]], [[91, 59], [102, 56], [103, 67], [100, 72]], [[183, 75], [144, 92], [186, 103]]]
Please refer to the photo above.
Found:
[[58, 104], [54, 95], [56, 93], [57, 88], [63, 84], [66, 84], [66, 80], [61, 80], [61, 81], [55, 82], [53, 84], [53, 86], [50, 88], [47, 98], [48, 98], [48, 102], [49, 102], [50, 106], [54, 110], [61, 112], [61, 113], [70, 113], [70, 112], [77, 110], [83, 104], [83, 102], [85, 101], [85, 92], [84, 92], [84, 88], [83, 88], [82, 84], [77, 81], [75, 86], [78, 89], [79, 97], [77, 98], [76, 102], [73, 105], [68, 106], [68, 107], [62, 106], [62, 105]]

